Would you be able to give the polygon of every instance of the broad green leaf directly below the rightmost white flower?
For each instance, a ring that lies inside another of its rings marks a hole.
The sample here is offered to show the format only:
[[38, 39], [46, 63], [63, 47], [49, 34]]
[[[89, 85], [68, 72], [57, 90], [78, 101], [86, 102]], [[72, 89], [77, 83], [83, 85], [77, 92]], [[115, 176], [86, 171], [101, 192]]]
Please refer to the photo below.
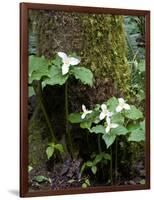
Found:
[[132, 119], [132, 120], [143, 118], [142, 112], [139, 109], [137, 109], [135, 106], [131, 106], [130, 110], [125, 110], [124, 115], [128, 119]]

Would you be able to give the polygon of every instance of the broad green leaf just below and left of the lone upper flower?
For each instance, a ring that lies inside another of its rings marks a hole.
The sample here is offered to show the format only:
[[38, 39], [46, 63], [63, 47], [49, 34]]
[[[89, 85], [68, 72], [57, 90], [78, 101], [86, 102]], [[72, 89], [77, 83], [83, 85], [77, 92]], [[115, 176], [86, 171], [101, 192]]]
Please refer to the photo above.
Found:
[[50, 78], [43, 81], [45, 85], [63, 85], [68, 79], [68, 74], [62, 75], [61, 68], [56, 66], [50, 67], [49, 74]]

